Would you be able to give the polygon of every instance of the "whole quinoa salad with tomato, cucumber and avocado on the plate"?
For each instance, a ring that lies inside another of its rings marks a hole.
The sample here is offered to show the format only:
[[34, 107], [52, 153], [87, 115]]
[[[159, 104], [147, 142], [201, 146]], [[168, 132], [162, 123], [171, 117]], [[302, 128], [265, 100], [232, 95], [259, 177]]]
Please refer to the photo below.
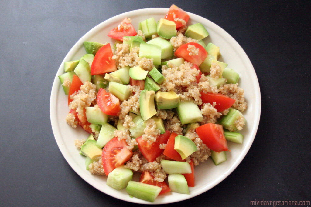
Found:
[[[209, 157], [218, 165], [226, 160], [227, 141], [243, 142], [247, 103], [239, 75], [219, 61], [225, 48], [209, 43], [204, 26], [188, 25], [187, 16], [173, 4], [160, 20], [132, 25], [125, 18], [108, 34], [114, 45], [85, 42], [86, 56], [66, 62], [59, 76], [68, 95], [67, 124], [90, 134], [73, 143], [86, 170], [111, 180], [120, 167], [139, 173], [140, 183], [160, 187], [152, 198], [131, 189], [132, 176], [124, 175], [123, 187], [108, 179], [107, 185], [151, 202], [169, 191], [189, 193], [195, 166]], [[153, 48], [160, 52], [149, 54]], [[179, 164], [187, 169], [171, 171]], [[173, 175], [181, 175], [174, 177], [177, 187]], [[148, 191], [143, 187], [138, 191]]]

